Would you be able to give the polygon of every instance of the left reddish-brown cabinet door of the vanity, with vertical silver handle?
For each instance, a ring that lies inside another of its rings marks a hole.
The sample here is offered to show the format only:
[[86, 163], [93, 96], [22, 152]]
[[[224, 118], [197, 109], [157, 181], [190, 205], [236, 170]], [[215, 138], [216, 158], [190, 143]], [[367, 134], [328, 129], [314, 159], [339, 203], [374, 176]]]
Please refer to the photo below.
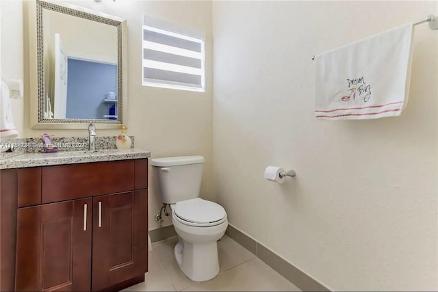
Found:
[[90, 291], [92, 200], [18, 209], [17, 291]]

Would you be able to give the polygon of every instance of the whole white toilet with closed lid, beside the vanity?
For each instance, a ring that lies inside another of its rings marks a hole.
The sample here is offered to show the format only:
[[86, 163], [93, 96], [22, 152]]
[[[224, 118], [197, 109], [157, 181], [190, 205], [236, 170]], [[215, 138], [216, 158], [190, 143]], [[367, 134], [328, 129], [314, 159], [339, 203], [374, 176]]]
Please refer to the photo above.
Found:
[[224, 208], [199, 198], [202, 156], [151, 159], [162, 201], [170, 204], [172, 223], [179, 237], [175, 259], [193, 281], [207, 281], [219, 273], [218, 241], [227, 230]]

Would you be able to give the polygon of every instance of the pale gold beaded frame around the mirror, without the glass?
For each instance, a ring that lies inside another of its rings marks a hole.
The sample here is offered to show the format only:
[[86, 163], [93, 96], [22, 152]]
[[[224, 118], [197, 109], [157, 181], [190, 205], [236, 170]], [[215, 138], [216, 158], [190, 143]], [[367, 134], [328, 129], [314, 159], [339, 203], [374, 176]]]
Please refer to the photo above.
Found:
[[[84, 129], [89, 122], [96, 129], [120, 129], [127, 126], [127, 22], [125, 19], [89, 10], [68, 3], [50, 1], [29, 1], [29, 93], [30, 122], [32, 129]], [[118, 119], [47, 119], [44, 118], [44, 45], [42, 10], [48, 9], [89, 21], [96, 21], [117, 28], [117, 70], [118, 70]]]

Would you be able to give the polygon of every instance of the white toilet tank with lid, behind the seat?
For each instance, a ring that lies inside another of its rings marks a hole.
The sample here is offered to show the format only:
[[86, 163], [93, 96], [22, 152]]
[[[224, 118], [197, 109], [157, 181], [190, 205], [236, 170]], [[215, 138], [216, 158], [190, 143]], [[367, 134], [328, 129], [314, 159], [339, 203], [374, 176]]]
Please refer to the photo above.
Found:
[[151, 159], [159, 194], [166, 204], [199, 197], [203, 176], [202, 156]]

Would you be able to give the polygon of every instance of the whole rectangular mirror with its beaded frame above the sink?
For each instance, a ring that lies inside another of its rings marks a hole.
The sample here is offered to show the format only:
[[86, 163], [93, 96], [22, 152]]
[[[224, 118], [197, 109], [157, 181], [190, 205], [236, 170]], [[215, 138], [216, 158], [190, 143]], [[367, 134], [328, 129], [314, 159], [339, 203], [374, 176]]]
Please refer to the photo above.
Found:
[[122, 18], [62, 1], [29, 3], [31, 127], [126, 125], [126, 55]]

